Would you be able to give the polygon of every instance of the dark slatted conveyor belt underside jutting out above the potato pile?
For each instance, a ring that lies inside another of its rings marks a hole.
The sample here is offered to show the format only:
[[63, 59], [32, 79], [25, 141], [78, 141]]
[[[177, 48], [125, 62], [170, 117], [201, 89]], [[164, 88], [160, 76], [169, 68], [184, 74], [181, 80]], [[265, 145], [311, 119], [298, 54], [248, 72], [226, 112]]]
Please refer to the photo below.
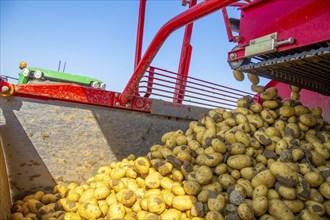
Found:
[[249, 63], [237, 70], [330, 95], [330, 46]]

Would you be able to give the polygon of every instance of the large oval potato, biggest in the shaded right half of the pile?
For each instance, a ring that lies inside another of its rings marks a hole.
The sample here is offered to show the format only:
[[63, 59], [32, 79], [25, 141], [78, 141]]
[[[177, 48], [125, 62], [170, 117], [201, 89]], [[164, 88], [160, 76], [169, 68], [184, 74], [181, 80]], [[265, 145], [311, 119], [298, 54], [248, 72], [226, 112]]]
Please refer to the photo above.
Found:
[[270, 172], [283, 186], [293, 187], [298, 182], [298, 174], [285, 163], [273, 163], [270, 166]]

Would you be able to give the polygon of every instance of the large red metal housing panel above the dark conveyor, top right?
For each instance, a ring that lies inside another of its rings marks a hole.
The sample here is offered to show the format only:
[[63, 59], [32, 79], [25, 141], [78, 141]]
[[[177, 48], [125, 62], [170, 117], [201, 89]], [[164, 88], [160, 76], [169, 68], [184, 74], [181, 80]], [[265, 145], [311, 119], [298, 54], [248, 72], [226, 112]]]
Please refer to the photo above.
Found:
[[[240, 50], [228, 61], [244, 58], [250, 40], [277, 32], [278, 41], [293, 37], [294, 44], [277, 48], [283, 52], [330, 40], [330, 4], [325, 0], [255, 0], [240, 7]], [[226, 23], [226, 28], [228, 29]], [[229, 37], [230, 39], [230, 37]]]

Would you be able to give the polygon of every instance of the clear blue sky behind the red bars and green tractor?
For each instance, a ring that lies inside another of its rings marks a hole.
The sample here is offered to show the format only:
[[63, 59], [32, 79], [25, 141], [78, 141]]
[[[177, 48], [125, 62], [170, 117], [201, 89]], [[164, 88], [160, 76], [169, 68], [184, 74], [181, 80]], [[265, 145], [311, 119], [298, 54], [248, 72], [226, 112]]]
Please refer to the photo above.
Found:
[[[3, 1], [1, 0], [0, 74], [17, 77], [20, 61], [103, 80], [121, 92], [133, 73], [139, 1]], [[159, 28], [186, 10], [180, 0], [147, 1], [143, 52]], [[228, 9], [239, 15], [237, 9]], [[174, 32], [153, 66], [177, 71], [183, 28]], [[237, 82], [226, 62], [235, 46], [228, 42], [221, 11], [194, 23], [190, 76], [250, 92]], [[261, 85], [268, 80], [261, 80]]]

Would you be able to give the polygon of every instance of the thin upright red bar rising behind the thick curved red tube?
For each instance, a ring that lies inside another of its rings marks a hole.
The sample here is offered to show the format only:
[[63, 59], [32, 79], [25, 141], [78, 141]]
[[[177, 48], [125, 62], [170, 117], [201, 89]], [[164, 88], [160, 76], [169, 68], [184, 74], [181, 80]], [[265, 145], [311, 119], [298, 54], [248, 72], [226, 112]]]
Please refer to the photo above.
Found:
[[136, 34], [134, 69], [136, 68], [136, 66], [139, 64], [139, 62], [141, 60], [146, 2], [147, 2], [147, 0], [140, 0], [139, 22], [138, 22], [137, 34]]

